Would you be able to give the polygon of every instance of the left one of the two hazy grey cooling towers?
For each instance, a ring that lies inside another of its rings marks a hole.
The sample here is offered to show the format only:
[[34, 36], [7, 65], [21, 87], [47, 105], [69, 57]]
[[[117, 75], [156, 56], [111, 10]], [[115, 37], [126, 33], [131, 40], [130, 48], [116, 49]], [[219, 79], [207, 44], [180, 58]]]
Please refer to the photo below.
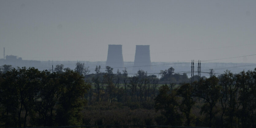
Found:
[[115, 67], [124, 67], [122, 45], [109, 44], [106, 66], [110, 66], [114, 69]]

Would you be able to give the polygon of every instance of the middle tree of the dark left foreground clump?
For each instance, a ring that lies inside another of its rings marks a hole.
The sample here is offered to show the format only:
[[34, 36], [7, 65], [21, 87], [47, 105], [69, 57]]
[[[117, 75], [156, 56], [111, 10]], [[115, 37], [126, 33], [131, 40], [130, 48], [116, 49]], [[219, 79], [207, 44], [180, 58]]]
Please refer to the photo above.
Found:
[[63, 86], [59, 84], [59, 73], [47, 70], [41, 72], [41, 85], [36, 100], [35, 110], [39, 113], [39, 120], [43, 126], [53, 126], [54, 111], [62, 93]]

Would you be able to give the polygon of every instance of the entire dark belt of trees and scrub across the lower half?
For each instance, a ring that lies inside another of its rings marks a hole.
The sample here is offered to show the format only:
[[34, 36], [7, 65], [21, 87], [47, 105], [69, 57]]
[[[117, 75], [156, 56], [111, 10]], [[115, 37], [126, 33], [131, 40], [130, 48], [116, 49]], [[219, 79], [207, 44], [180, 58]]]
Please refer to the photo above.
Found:
[[[256, 127], [256, 69], [193, 81], [170, 67], [158, 77], [83, 63], [71, 70], [0, 68], [0, 127], [170, 125]], [[196, 77], [196, 76], [195, 76]]]

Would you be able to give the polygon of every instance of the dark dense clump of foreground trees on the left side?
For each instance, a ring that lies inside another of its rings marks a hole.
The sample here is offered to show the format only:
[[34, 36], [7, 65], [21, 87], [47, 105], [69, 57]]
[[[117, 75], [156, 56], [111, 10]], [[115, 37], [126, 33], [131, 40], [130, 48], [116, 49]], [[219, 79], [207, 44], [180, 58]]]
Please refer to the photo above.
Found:
[[[3, 66], [6, 67], [6, 66]], [[1, 127], [66, 126], [82, 123], [90, 84], [79, 73], [4, 68], [0, 77]]]

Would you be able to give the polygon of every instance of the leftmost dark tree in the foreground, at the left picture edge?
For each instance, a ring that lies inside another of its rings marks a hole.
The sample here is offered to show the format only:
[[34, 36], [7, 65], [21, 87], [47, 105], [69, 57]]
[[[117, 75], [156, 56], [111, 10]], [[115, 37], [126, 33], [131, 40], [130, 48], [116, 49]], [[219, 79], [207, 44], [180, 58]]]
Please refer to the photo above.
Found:
[[10, 119], [6, 120], [5, 126], [27, 126], [27, 117], [33, 113], [39, 85], [40, 71], [35, 68], [12, 69], [3, 74], [0, 102], [6, 109], [6, 119]]

